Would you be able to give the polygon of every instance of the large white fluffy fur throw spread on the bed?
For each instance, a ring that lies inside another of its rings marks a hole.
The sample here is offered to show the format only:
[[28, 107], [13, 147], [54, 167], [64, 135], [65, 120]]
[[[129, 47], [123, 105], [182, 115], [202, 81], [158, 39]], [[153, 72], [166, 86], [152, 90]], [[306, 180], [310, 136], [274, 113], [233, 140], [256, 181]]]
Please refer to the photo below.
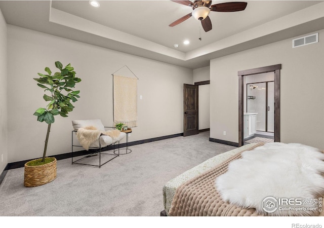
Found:
[[313, 215], [314, 211], [296, 209], [266, 213], [262, 201], [270, 196], [318, 201], [324, 195], [323, 173], [324, 154], [318, 149], [299, 143], [274, 142], [242, 153], [242, 158], [231, 162], [215, 184], [223, 200], [256, 208], [261, 214]]

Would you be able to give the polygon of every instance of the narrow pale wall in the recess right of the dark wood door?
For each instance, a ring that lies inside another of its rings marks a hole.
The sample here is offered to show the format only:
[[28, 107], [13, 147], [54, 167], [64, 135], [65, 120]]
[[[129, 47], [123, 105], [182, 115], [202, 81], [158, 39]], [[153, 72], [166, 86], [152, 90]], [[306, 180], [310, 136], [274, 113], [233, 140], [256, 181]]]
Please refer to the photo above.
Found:
[[[193, 82], [203, 82], [210, 80], [210, 67], [201, 67], [193, 70]], [[210, 85], [198, 87], [198, 125], [199, 130], [210, 127]]]

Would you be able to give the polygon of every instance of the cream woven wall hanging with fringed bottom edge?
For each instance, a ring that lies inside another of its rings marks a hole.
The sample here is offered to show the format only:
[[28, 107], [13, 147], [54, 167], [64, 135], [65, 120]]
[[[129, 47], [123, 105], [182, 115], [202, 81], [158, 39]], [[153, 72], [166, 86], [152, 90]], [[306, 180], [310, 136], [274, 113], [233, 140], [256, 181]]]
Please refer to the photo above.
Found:
[[137, 126], [137, 79], [113, 75], [114, 125]]

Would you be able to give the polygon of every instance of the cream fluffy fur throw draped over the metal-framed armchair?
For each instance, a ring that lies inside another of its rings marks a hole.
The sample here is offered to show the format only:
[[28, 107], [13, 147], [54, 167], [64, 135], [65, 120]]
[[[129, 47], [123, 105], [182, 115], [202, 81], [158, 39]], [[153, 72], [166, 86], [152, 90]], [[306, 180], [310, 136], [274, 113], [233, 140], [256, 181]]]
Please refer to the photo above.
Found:
[[117, 139], [119, 134], [120, 131], [116, 129], [99, 131], [93, 126], [88, 126], [85, 128], [79, 128], [76, 132], [76, 138], [86, 150], [89, 150], [90, 145], [96, 140], [99, 140], [100, 135], [107, 135], [112, 139]]

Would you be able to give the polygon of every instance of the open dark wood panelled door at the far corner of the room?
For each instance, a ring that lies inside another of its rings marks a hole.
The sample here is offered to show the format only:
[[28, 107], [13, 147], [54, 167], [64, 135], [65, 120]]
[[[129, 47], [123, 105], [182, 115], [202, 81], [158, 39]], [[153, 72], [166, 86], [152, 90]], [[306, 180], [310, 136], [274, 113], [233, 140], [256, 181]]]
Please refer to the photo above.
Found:
[[183, 136], [198, 133], [198, 86], [183, 84]]

